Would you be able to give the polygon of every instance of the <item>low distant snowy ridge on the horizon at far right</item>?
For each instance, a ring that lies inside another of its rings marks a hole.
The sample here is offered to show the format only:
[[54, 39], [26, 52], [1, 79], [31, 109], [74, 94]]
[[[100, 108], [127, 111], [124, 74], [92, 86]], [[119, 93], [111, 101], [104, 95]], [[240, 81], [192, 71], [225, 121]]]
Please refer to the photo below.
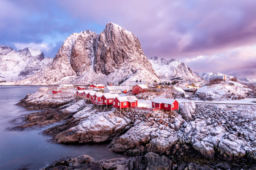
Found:
[[[206, 81], [210, 81], [213, 76], [226, 76], [227, 80], [232, 79], [234, 76], [229, 76], [226, 74], [218, 73], [218, 72], [201, 72], [198, 74], [203, 77]], [[256, 79], [248, 79], [248, 78], [238, 78], [238, 82], [240, 83], [256, 83]]]

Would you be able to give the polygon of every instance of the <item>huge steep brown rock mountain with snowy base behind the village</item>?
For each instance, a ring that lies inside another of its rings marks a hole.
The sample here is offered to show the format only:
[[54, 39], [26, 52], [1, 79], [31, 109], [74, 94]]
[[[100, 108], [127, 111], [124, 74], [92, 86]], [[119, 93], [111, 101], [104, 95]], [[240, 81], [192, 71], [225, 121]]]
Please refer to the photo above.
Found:
[[108, 23], [101, 34], [84, 31], [67, 37], [52, 65], [17, 84], [123, 82], [122, 85], [128, 85], [137, 79], [159, 81], [138, 38], [124, 28]]

